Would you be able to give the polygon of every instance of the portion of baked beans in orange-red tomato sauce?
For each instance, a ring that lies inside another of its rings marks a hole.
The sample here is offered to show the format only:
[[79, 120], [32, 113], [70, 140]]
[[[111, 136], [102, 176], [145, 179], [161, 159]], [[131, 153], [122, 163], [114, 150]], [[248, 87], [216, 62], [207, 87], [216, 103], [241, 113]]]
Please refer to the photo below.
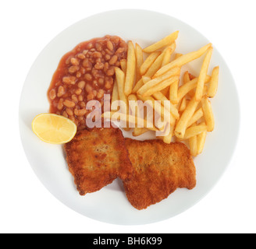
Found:
[[77, 45], [65, 54], [48, 89], [50, 112], [69, 117], [77, 130], [86, 128], [87, 102], [101, 103], [112, 93], [115, 67], [126, 59], [127, 45], [119, 37], [105, 36]]

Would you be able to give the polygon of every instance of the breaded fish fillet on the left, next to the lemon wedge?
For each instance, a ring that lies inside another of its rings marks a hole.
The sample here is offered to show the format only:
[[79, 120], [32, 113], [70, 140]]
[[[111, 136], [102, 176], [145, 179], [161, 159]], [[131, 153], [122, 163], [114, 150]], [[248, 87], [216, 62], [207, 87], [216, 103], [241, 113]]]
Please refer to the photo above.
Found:
[[80, 195], [98, 191], [116, 177], [125, 179], [132, 170], [119, 128], [82, 130], [64, 149]]

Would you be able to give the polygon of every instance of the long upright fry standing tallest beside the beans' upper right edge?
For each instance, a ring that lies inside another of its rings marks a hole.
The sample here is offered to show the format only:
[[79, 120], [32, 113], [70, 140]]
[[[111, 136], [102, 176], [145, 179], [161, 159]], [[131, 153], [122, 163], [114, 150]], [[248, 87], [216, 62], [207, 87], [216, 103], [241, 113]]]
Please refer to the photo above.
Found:
[[133, 82], [136, 72], [136, 58], [135, 58], [135, 49], [133, 42], [128, 41], [128, 51], [127, 51], [127, 62], [126, 62], [126, 79], [124, 84], [124, 93], [126, 96], [132, 93]]

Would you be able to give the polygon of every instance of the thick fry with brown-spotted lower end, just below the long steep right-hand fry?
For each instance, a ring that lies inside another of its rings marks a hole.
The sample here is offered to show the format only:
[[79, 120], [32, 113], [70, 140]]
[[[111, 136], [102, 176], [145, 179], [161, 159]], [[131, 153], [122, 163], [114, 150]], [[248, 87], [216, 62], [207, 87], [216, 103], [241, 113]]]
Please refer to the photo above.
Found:
[[187, 107], [183, 111], [183, 114], [181, 115], [175, 128], [175, 135], [177, 138], [183, 139], [186, 132], [186, 128], [187, 128], [187, 123], [190, 121], [190, 118], [193, 116], [194, 111], [197, 108], [197, 105], [198, 105], [198, 102], [195, 100], [195, 97], [193, 97], [193, 99], [190, 100], [190, 102], [187, 104]]

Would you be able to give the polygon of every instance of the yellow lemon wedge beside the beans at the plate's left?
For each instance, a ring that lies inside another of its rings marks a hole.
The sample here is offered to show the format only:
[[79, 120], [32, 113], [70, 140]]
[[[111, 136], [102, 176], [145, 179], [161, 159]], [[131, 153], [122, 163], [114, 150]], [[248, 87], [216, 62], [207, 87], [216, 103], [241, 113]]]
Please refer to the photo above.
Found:
[[57, 114], [39, 114], [32, 121], [32, 130], [39, 139], [52, 144], [69, 142], [76, 135], [76, 124]]

